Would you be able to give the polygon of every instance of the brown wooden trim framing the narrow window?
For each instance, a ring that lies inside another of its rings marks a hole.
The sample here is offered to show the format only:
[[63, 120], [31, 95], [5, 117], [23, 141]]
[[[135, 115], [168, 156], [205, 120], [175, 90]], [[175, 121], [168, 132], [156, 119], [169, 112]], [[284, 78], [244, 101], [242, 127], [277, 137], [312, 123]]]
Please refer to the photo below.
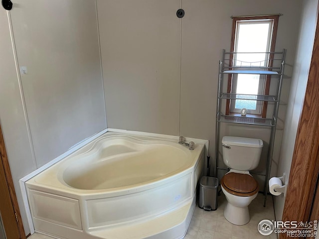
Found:
[[[271, 37], [271, 43], [270, 43], [270, 51], [274, 52], [275, 51], [275, 46], [276, 46], [276, 38], [277, 38], [277, 29], [278, 29], [278, 21], [279, 21], [279, 16], [278, 15], [262, 15], [262, 16], [247, 16], [247, 17], [233, 17], [233, 24], [232, 24], [232, 35], [231, 35], [231, 42], [230, 42], [230, 51], [234, 52], [234, 47], [235, 47], [235, 33], [236, 33], [236, 26], [237, 26], [237, 21], [239, 20], [262, 20], [262, 19], [273, 19], [274, 20], [274, 25], [273, 25], [273, 32], [272, 32], [272, 37]], [[230, 55], [230, 62], [229, 64], [232, 64], [232, 59], [233, 56]], [[274, 55], [272, 54], [270, 56], [270, 59], [274, 59]], [[273, 66], [273, 61], [270, 61], [268, 63], [268, 66]], [[266, 76], [266, 82], [265, 82], [265, 90], [264, 94], [269, 95], [269, 89], [270, 89], [270, 81], [271, 81], [271, 76], [267, 75]], [[233, 82], [233, 75], [228, 75], [228, 83], [227, 83], [227, 93], [231, 93], [232, 91], [232, 82]], [[267, 114], [267, 106], [268, 102], [263, 102], [262, 106], [262, 113], [261, 117], [266, 118]], [[226, 110], [225, 110], [225, 115], [230, 114], [230, 100], [226, 100]]]

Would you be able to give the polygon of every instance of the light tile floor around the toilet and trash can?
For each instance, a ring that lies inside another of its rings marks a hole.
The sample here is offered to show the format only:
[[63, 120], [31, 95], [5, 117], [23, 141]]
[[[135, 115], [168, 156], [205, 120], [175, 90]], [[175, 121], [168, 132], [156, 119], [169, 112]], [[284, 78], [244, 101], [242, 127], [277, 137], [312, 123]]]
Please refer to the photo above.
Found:
[[[264, 195], [258, 194], [257, 198], [249, 205], [250, 222], [244, 226], [233, 225], [224, 218], [225, 204], [226, 199], [222, 194], [218, 196], [216, 211], [206, 212], [196, 206], [185, 239], [277, 239], [277, 235], [274, 233], [265, 237], [257, 231], [261, 220], [275, 220], [272, 196], [267, 196], [267, 205], [264, 208]], [[35, 233], [28, 239], [52, 238]]]

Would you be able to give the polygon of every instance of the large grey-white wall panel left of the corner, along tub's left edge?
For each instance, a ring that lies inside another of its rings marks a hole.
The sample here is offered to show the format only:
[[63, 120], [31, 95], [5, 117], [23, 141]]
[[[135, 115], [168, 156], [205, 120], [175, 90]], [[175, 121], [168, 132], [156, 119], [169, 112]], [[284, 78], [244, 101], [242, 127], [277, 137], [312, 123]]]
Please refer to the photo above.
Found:
[[106, 128], [95, 0], [15, 0], [12, 29], [37, 166]]

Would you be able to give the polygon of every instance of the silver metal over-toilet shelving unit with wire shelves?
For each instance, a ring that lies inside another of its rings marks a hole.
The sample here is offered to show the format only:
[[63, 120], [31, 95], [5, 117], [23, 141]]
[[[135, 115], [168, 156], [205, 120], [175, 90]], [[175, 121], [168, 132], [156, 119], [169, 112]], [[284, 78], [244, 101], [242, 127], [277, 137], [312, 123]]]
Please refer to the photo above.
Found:
[[[248, 62], [239, 59], [247, 59], [253, 54], [265, 56], [261, 61]], [[222, 60], [219, 61], [219, 79], [217, 91], [217, 108], [216, 108], [216, 149], [215, 149], [215, 170], [214, 175], [218, 177], [217, 170], [228, 170], [227, 168], [218, 167], [219, 145], [220, 145], [220, 123], [240, 123], [249, 125], [266, 126], [270, 128], [269, 148], [266, 163], [266, 173], [257, 173], [265, 176], [264, 184], [264, 207], [266, 206], [268, 181], [270, 177], [270, 169], [272, 162], [272, 155], [274, 151], [274, 141], [276, 133], [276, 125], [279, 110], [279, 100], [282, 89], [284, 66], [285, 66], [286, 49], [282, 52], [222, 52]], [[234, 74], [257, 74], [271, 76], [271, 79], [277, 80], [277, 88], [275, 95], [242, 95], [223, 92], [223, 78], [224, 75]], [[272, 118], [256, 118], [249, 116], [232, 116], [222, 113], [221, 101], [223, 100], [253, 100], [261, 102], [273, 102], [274, 110]]]

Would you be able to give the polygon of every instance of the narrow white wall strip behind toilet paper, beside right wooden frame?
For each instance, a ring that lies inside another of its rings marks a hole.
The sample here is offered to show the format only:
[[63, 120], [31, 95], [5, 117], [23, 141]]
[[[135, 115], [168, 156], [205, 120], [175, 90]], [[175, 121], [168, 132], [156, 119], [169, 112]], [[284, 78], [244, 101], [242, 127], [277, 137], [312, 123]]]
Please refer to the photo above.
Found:
[[[318, 0], [302, 1], [302, 14], [299, 26], [297, 53], [294, 62], [292, 84], [280, 151], [279, 167], [277, 172], [278, 176], [286, 173], [287, 182], [289, 179], [298, 123], [304, 104], [311, 57], [313, 52], [317, 25], [317, 6]], [[278, 197], [275, 197], [274, 203], [276, 220], [281, 220], [285, 204], [284, 195], [282, 194]]]

